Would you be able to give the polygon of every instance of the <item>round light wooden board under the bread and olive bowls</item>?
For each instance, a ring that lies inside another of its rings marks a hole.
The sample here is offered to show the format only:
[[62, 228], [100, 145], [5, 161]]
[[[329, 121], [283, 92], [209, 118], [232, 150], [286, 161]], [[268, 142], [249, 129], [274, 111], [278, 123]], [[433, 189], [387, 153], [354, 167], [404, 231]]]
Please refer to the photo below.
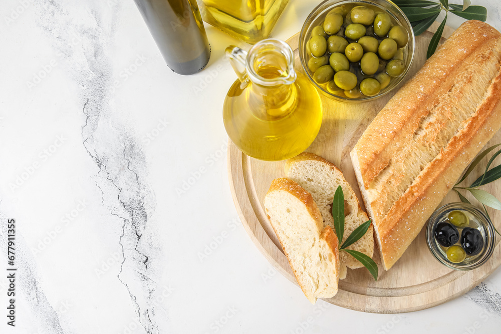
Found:
[[[429, 31], [416, 38], [416, 55], [407, 78], [411, 78], [426, 61], [426, 50], [438, 27], [434, 23]], [[443, 36], [448, 37], [452, 29], [445, 27]], [[445, 41], [441, 39], [441, 43]], [[299, 34], [287, 41], [294, 50], [297, 71], [303, 72], [299, 55]], [[402, 83], [403, 84], [403, 83]], [[396, 91], [396, 90], [395, 90]], [[318, 154], [333, 162], [343, 171], [346, 179], [357, 192], [361, 203], [358, 184], [353, 172], [349, 153], [374, 116], [386, 105], [391, 95], [376, 101], [348, 104], [332, 101], [322, 96], [324, 118], [322, 128], [308, 152]], [[501, 142], [501, 132], [487, 144], [487, 147]], [[487, 159], [478, 165], [465, 181], [471, 184], [485, 168]], [[297, 285], [294, 274], [284, 255], [280, 243], [264, 213], [263, 199], [273, 179], [284, 177], [284, 161], [267, 162], [242, 154], [229, 141], [228, 173], [233, 200], [250, 238], [270, 263], [284, 276]], [[483, 189], [491, 194], [501, 195], [499, 183], [493, 182]], [[464, 194], [476, 202], [469, 194]], [[499, 196], [501, 197], [501, 196]], [[449, 193], [440, 205], [457, 202], [455, 193]], [[489, 209], [494, 222], [501, 220], [501, 212]], [[495, 223], [499, 229], [499, 223]], [[451, 270], [440, 264], [426, 245], [425, 229], [416, 237], [405, 254], [389, 271], [379, 266], [376, 281], [365, 268], [348, 269], [346, 279], [339, 282], [338, 293], [324, 299], [342, 307], [374, 313], [400, 313], [420, 310], [451, 300], [487, 277], [501, 264], [501, 247], [496, 247], [491, 259], [483, 266], [470, 271]], [[376, 257], [375, 260], [379, 261]]]

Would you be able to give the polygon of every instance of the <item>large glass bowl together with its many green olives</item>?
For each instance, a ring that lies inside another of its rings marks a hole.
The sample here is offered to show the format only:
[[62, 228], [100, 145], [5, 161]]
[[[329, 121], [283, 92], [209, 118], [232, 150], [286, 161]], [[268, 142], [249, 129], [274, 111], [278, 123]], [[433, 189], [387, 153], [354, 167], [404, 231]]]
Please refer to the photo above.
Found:
[[327, 0], [306, 19], [299, 57], [324, 95], [368, 101], [395, 88], [414, 59], [415, 39], [402, 11], [386, 0]]

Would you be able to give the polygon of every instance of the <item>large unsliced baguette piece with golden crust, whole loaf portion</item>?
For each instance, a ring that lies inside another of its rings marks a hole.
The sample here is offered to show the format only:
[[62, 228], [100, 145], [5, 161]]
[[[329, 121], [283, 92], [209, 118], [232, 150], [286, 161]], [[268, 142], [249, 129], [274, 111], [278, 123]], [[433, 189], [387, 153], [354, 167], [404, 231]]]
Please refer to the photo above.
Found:
[[463, 23], [379, 112], [351, 152], [389, 269], [501, 126], [501, 34]]

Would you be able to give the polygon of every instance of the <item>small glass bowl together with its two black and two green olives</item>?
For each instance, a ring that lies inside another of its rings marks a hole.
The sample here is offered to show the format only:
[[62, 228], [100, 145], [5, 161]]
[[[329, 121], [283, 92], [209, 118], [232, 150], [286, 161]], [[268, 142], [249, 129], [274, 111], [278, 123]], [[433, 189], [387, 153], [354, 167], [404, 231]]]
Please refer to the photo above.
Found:
[[435, 258], [451, 269], [484, 264], [495, 247], [495, 230], [484, 212], [467, 203], [449, 203], [428, 219], [426, 242]]

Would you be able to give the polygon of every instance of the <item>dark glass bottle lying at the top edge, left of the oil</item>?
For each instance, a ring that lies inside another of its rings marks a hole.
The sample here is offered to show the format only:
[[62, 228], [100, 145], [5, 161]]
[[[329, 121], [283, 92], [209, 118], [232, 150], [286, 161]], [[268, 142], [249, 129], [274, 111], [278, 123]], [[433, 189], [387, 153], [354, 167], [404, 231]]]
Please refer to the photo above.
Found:
[[167, 66], [189, 75], [210, 57], [209, 42], [195, 0], [134, 0]]

